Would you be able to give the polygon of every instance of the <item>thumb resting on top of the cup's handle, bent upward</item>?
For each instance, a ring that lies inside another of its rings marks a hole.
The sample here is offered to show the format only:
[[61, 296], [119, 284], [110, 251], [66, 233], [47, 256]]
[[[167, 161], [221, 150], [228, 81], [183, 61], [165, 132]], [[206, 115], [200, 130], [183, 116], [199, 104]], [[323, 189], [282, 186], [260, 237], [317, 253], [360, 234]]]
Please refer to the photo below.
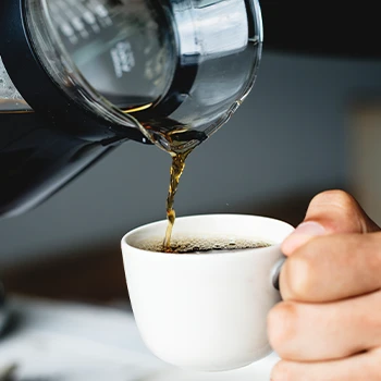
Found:
[[288, 256], [317, 235], [379, 230], [354, 197], [343, 190], [327, 190], [312, 198], [305, 220], [283, 242], [282, 250]]

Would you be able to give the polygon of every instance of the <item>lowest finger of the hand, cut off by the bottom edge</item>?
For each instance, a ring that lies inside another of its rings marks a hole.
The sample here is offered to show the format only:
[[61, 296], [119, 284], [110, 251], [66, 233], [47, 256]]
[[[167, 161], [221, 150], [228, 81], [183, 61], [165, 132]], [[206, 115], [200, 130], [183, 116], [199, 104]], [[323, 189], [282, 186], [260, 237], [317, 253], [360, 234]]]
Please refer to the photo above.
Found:
[[271, 381], [380, 381], [380, 349], [328, 362], [281, 360], [272, 369]]

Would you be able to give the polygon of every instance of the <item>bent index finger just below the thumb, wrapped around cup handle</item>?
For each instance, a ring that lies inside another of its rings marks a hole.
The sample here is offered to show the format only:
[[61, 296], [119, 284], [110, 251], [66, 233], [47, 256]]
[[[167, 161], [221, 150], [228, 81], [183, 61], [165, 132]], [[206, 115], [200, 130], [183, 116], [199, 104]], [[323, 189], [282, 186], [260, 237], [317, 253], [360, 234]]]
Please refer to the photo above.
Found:
[[381, 232], [317, 237], [285, 261], [284, 300], [330, 302], [381, 288]]

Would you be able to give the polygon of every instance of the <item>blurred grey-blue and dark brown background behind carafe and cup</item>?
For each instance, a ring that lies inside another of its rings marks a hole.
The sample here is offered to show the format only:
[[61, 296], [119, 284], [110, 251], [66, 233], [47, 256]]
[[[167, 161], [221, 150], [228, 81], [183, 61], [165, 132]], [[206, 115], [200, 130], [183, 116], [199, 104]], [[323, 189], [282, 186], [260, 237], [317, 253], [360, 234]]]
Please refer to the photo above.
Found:
[[[261, 1], [257, 82], [231, 121], [188, 158], [177, 216], [260, 213], [297, 224], [311, 197], [341, 188], [381, 222], [381, 49], [367, 4], [321, 20], [308, 4]], [[153, 146], [125, 143], [35, 210], [0, 220], [5, 288], [127, 300], [120, 239], [165, 218], [170, 163]]]

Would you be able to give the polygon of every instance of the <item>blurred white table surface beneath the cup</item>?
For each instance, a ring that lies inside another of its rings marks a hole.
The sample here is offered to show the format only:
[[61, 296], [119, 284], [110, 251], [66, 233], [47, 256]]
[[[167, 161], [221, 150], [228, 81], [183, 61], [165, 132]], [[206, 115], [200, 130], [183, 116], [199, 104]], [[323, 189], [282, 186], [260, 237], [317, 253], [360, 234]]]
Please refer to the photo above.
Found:
[[225, 372], [190, 372], [149, 353], [133, 315], [118, 308], [10, 297], [15, 329], [0, 339], [1, 369], [16, 381], [269, 381], [273, 354]]

